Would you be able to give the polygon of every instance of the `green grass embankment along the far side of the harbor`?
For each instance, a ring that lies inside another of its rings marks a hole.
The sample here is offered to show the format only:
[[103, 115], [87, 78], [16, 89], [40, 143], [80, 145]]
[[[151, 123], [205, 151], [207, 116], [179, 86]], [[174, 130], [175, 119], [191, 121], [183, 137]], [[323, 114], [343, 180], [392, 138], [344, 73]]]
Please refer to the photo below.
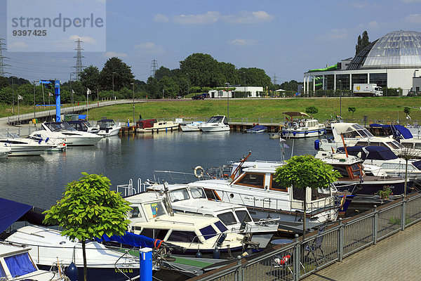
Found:
[[[248, 118], [249, 122], [269, 122], [270, 119], [283, 119], [282, 112], [301, 111], [314, 105], [319, 112], [313, 117], [320, 120], [330, 119], [340, 114], [339, 98], [284, 98], [284, 99], [248, 99], [229, 100], [229, 118], [233, 122]], [[399, 106], [398, 106], [399, 105]], [[406, 114], [403, 107], [421, 105], [421, 97], [373, 97], [373, 98], [342, 98], [342, 117], [352, 120], [352, 112], [348, 107], [356, 107], [354, 120], [361, 122], [364, 115], [368, 120], [394, 120], [399, 117], [401, 122]], [[33, 112], [34, 107], [21, 107], [20, 112]], [[15, 108], [15, 113], [17, 112]], [[171, 100], [171, 101], [148, 101], [147, 103], [135, 104], [135, 119], [142, 115], [143, 119], [149, 118], [173, 118], [184, 117], [185, 119], [206, 119], [213, 115], [227, 115], [227, 100]], [[0, 106], [0, 116], [11, 115], [11, 107]], [[89, 110], [90, 120], [99, 120], [107, 117], [115, 120], [133, 119], [133, 105], [113, 105]], [[421, 120], [421, 110], [411, 108], [412, 120]]]

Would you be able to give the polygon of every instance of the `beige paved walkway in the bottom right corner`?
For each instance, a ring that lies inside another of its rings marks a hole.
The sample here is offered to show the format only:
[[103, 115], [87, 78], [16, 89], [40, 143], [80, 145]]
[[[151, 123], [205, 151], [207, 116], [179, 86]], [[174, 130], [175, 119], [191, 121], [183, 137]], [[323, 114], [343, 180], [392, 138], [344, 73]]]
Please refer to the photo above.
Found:
[[334, 263], [304, 281], [421, 280], [421, 223]]

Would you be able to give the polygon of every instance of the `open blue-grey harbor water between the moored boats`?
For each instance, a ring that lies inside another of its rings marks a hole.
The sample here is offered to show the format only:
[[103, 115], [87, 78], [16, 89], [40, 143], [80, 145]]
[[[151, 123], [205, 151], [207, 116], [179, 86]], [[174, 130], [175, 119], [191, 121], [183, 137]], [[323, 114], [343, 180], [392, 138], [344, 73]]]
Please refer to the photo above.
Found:
[[[285, 159], [293, 155], [315, 155], [316, 138], [286, 141]], [[95, 146], [68, 147], [38, 157], [0, 159], [0, 195], [8, 200], [48, 209], [60, 200], [65, 185], [78, 180], [81, 172], [103, 174], [116, 185], [152, 179], [155, 170], [192, 173], [195, 166], [210, 168], [249, 159], [279, 161], [279, 139], [267, 133], [168, 132], [127, 134], [102, 139]]]

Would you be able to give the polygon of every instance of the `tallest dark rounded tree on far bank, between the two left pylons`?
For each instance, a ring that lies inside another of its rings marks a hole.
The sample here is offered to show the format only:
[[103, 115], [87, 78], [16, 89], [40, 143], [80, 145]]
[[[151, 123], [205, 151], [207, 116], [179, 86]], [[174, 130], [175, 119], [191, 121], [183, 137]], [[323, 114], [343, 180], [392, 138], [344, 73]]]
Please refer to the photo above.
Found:
[[112, 90], [113, 76], [114, 91], [119, 91], [123, 87], [130, 88], [130, 84], [133, 83], [134, 75], [131, 72], [131, 67], [126, 65], [126, 63], [123, 63], [123, 60], [117, 57], [107, 60], [102, 68], [100, 72], [101, 89]]

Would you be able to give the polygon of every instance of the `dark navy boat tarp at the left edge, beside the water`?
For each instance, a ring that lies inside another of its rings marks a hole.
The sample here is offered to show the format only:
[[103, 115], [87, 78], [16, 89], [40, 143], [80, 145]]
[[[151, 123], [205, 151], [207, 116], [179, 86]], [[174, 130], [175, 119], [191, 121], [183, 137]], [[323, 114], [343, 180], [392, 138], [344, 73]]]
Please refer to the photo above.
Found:
[[0, 233], [18, 221], [32, 206], [0, 198]]

